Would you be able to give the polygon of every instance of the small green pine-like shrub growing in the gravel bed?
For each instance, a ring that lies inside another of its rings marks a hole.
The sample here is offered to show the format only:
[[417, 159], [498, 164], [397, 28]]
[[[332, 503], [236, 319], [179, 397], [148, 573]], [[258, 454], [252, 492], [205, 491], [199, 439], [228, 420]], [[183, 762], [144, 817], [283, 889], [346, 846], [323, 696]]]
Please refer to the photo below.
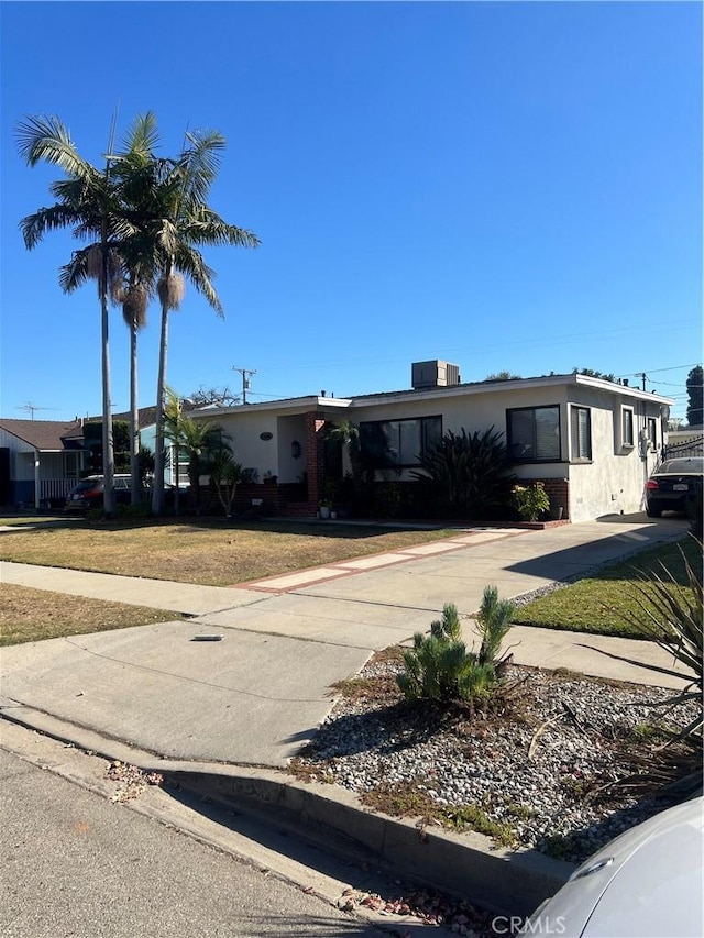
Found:
[[497, 655], [510, 626], [513, 605], [498, 599], [496, 587], [484, 591], [477, 627], [482, 634], [479, 654], [468, 652], [461, 639], [458, 610], [451, 603], [442, 609], [442, 619], [430, 626], [430, 634], [416, 632], [414, 647], [405, 652], [406, 671], [397, 675], [407, 700], [430, 699], [440, 703], [474, 703], [488, 696], [496, 686]]

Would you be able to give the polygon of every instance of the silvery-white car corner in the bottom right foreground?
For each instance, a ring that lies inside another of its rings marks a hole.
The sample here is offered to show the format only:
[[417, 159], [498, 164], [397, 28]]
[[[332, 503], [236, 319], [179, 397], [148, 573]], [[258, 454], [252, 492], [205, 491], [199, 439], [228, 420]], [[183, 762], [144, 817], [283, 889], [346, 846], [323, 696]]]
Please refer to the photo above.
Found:
[[702, 938], [704, 798], [612, 840], [540, 905], [520, 935]]

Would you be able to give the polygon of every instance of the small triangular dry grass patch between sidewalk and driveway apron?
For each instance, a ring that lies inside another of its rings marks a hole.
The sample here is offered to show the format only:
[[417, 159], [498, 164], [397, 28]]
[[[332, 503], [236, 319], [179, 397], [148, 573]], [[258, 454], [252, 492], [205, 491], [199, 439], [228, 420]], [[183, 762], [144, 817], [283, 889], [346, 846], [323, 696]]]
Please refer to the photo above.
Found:
[[177, 613], [0, 584], [0, 645], [147, 626]]

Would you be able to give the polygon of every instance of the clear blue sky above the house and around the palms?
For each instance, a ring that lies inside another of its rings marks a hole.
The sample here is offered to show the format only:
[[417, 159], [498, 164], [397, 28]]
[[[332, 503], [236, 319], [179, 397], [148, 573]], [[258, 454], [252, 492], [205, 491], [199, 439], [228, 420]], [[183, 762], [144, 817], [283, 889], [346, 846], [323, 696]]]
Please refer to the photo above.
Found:
[[[99, 413], [91, 285], [78, 246], [25, 251], [48, 205], [14, 128], [56, 113], [101, 163], [156, 113], [228, 140], [210, 203], [256, 251], [206, 251], [226, 319], [188, 289], [168, 383], [186, 396], [342, 397], [410, 386], [444, 358], [463, 380], [586, 366], [646, 372], [675, 397], [702, 360], [702, 4], [698, 2], [4, 2], [3, 417]], [[112, 398], [129, 405], [128, 331], [111, 312]], [[154, 402], [158, 309], [140, 340]]]

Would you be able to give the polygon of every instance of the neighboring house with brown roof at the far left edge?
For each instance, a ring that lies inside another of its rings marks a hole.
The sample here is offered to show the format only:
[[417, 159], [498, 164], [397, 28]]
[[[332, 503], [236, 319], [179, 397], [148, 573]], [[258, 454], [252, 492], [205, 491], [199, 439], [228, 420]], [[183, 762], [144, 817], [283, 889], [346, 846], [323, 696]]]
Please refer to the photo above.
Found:
[[82, 421], [0, 418], [0, 505], [63, 499], [84, 467]]

